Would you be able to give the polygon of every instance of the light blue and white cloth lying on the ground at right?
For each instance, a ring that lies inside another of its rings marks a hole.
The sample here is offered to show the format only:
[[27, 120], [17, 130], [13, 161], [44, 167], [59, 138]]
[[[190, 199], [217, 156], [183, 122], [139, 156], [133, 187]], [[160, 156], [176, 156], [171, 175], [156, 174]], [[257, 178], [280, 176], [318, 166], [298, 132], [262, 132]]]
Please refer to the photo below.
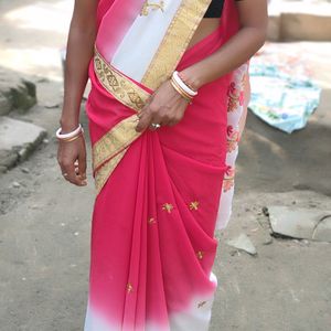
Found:
[[268, 125], [291, 134], [307, 125], [320, 102], [321, 88], [299, 55], [266, 46], [250, 62], [249, 109]]

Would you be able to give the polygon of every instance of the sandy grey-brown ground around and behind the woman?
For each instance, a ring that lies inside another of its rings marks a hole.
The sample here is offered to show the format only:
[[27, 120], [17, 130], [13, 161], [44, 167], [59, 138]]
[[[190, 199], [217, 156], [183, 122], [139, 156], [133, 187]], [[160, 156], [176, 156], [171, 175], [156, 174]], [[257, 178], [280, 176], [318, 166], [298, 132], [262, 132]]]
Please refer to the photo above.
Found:
[[[71, 8], [68, 1], [0, 0], [1, 65], [32, 75], [39, 92], [36, 107], [13, 116], [50, 132], [28, 161], [0, 177], [1, 331], [83, 329], [94, 200], [90, 167], [87, 188], [62, 180], [53, 134], [60, 108], [44, 107], [61, 103], [58, 49], [65, 44]], [[330, 329], [331, 244], [270, 238], [261, 212], [269, 204], [330, 209], [330, 44], [306, 46], [324, 88], [322, 103], [308, 127], [291, 136], [248, 116], [233, 218], [217, 233], [220, 287], [212, 331]], [[86, 124], [84, 111], [82, 121]], [[14, 181], [19, 188], [12, 186]], [[226, 245], [241, 233], [252, 238], [257, 257]]]

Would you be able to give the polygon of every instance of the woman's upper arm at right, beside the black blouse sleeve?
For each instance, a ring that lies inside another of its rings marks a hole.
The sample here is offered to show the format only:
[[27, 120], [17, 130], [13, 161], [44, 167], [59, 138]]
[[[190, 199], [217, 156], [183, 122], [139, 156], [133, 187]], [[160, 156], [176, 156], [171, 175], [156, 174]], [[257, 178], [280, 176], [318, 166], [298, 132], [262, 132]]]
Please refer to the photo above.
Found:
[[236, 1], [236, 6], [243, 28], [256, 28], [266, 32], [268, 24], [267, 0], [241, 0]]

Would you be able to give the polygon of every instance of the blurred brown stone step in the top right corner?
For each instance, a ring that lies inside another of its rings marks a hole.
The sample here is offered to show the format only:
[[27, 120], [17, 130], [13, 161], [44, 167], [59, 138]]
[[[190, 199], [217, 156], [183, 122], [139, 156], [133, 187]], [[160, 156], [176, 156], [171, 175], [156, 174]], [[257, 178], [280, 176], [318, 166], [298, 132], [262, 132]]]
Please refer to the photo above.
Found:
[[331, 3], [275, 1], [269, 6], [269, 41], [331, 41]]

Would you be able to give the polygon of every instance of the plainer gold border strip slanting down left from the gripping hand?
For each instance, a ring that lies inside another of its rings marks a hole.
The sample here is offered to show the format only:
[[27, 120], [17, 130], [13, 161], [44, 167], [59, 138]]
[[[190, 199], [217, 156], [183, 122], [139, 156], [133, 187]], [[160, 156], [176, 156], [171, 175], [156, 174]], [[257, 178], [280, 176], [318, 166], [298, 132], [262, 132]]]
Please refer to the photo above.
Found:
[[94, 145], [93, 168], [95, 171], [141, 135], [135, 129], [137, 120], [137, 115], [127, 117], [111, 128]]

